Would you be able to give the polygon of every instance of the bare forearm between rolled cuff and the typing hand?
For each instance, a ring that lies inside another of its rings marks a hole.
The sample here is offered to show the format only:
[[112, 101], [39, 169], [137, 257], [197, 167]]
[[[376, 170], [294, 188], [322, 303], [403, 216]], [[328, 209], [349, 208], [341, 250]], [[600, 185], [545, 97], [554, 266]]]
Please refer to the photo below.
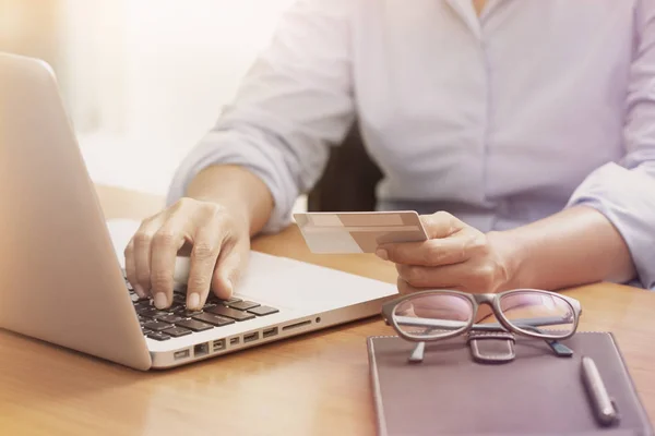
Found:
[[237, 211], [249, 222], [251, 235], [262, 230], [273, 210], [273, 197], [265, 183], [238, 166], [207, 167], [189, 183], [186, 195]]

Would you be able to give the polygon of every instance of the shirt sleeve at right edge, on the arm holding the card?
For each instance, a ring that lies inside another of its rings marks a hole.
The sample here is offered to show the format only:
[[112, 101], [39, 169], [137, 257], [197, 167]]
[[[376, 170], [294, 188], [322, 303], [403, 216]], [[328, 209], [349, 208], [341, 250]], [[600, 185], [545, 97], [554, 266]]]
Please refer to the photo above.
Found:
[[607, 164], [575, 190], [568, 206], [604, 214], [630, 250], [639, 281], [655, 290], [655, 8], [635, 10], [635, 46], [627, 94], [624, 145], [620, 162]]

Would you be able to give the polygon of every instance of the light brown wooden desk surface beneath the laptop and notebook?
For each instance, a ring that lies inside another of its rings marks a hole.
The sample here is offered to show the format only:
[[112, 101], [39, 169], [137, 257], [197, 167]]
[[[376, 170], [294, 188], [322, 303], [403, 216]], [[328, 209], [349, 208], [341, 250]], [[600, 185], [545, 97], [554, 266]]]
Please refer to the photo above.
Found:
[[[98, 187], [107, 218], [142, 218], [158, 197]], [[314, 256], [295, 229], [254, 242], [286, 255], [395, 282], [374, 256]], [[616, 334], [655, 417], [655, 294], [621, 286], [572, 290], [581, 329]], [[371, 435], [365, 339], [378, 319], [311, 334], [167, 372], [140, 373], [0, 332], [2, 435]]]

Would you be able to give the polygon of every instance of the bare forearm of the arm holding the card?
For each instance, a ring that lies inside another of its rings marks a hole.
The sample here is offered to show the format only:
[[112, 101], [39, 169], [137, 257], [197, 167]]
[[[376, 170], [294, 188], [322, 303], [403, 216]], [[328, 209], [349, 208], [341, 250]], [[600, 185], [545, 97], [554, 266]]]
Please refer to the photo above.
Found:
[[621, 234], [591, 207], [571, 207], [489, 238], [508, 261], [507, 288], [555, 290], [635, 277]]

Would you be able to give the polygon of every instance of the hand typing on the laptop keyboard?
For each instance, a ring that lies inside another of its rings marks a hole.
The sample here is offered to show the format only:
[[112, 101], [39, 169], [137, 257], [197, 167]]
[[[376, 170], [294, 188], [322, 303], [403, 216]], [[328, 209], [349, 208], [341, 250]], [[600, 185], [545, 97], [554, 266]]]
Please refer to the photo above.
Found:
[[172, 302], [176, 258], [189, 255], [187, 307], [199, 310], [210, 292], [231, 295], [249, 252], [247, 214], [184, 197], [143, 220], [126, 247], [126, 272], [139, 296], [152, 296], [157, 308], [166, 308]]

